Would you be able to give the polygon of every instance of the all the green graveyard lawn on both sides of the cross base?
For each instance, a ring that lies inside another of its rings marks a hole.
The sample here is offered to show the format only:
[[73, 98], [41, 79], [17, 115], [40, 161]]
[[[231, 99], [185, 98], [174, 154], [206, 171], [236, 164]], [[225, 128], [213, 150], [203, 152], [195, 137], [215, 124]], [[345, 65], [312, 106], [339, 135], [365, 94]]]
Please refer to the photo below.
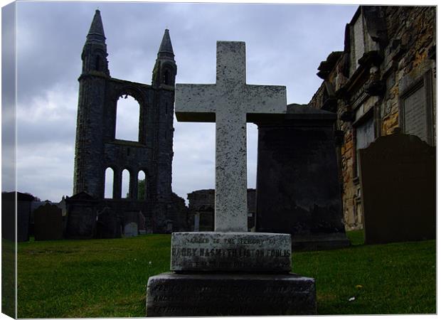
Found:
[[[435, 314], [436, 242], [293, 252], [317, 281], [318, 314]], [[150, 276], [167, 272], [170, 235], [18, 244], [18, 317], [145, 316]], [[4, 242], [4, 241], [3, 241]]]

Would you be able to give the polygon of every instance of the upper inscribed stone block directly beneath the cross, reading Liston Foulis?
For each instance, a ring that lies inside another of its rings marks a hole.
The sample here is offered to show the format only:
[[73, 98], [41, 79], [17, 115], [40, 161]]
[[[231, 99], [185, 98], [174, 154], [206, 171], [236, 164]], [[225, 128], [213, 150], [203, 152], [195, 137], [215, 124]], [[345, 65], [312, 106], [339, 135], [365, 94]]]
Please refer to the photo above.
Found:
[[291, 235], [173, 233], [171, 271], [290, 272]]

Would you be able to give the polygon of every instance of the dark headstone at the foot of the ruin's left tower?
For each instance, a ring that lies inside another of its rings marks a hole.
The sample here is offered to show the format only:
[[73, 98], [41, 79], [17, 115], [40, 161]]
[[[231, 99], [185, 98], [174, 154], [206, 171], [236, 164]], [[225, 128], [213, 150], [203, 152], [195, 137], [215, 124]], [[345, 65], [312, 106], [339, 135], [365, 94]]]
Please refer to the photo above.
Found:
[[97, 222], [96, 199], [80, 192], [65, 201], [68, 210], [66, 236], [74, 239], [93, 238]]

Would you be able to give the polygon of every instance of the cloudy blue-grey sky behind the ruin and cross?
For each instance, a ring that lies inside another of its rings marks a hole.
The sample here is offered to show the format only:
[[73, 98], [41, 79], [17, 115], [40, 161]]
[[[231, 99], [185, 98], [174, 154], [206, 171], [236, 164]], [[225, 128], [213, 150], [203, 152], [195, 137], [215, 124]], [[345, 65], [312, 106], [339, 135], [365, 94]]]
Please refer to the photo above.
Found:
[[[169, 28], [177, 83], [216, 82], [216, 41], [245, 41], [247, 83], [285, 85], [287, 102], [300, 104], [322, 82], [319, 63], [343, 50], [344, 27], [356, 11], [348, 5], [18, 2], [18, 191], [42, 200], [72, 196], [80, 55], [97, 8], [113, 78], [150, 84]], [[125, 114], [134, 126], [119, 128], [121, 134], [137, 127], [134, 113]], [[213, 188], [214, 124], [175, 119], [174, 127], [174, 192], [186, 198]], [[249, 188], [255, 187], [256, 154], [257, 128], [249, 124]], [[3, 173], [2, 190], [12, 188]]]

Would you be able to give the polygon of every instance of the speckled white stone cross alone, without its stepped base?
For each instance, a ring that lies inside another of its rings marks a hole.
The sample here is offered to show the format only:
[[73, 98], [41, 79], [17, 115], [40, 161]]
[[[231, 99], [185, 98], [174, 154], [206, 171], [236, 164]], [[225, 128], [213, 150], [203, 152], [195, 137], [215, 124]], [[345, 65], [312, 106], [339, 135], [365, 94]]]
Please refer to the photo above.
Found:
[[244, 42], [216, 49], [216, 85], [176, 84], [176, 118], [216, 121], [215, 231], [247, 232], [246, 122], [285, 113], [286, 88], [246, 84]]

